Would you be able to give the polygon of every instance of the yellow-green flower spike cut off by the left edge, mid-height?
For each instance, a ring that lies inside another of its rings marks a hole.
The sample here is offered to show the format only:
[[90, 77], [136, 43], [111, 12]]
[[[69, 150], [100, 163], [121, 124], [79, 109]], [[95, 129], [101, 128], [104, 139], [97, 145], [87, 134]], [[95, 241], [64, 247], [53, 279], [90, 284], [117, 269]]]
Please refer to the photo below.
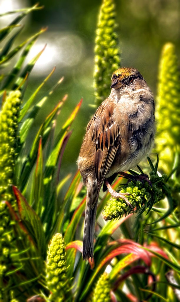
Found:
[[11, 201], [14, 183], [17, 119], [20, 111], [20, 91], [12, 91], [0, 112], [0, 196]]

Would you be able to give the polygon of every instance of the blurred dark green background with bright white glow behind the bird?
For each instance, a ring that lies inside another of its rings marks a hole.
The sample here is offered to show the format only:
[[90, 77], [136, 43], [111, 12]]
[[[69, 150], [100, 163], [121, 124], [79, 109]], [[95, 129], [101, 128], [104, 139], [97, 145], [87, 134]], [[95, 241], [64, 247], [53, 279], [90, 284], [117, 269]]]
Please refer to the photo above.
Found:
[[[33, 0], [0, 0], [0, 12], [29, 7], [35, 3]], [[180, 1], [116, 0], [115, 3], [118, 25], [116, 31], [120, 40], [122, 66], [137, 68], [156, 96], [158, 62], [163, 44], [173, 42], [179, 57]], [[47, 115], [59, 99], [68, 94], [57, 128], [83, 97], [82, 107], [73, 123], [73, 134], [63, 156], [63, 178], [77, 169], [76, 160], [85, 128], [90, 116], [95, 112], [95, 108], [89, 104], [94, 104], [94, 40], [101, 1], [45, 0], [39, 4], [44, 5], [44, 9], [34, 11], [27, 17], [18, 41], [19, 43], [41, 27], [48, 26], [48, 31], [39, 37], [28, 55], [29, 61], [47, 44], [29, 77], [25, 98], [31, 94], [31, 88], [38, 87], [54, 66], [56, 71], [44, 86], [44, 91], [50, 89], [61, 76], [64, 76], [64, 81], [37, 116], [34, 133], [29, 136], [29, 145], [44, 114]], [[14, 15], [1, 18], [0, 26], [8, 25], [13, 18]], [[14, 57], [14, 61], [16, 60], [17, 56]], [[10, 67], [7, 66], [7, 70], [8, 68]], [[43, 92], [40, 92], [39, 96], [42, 94]]]

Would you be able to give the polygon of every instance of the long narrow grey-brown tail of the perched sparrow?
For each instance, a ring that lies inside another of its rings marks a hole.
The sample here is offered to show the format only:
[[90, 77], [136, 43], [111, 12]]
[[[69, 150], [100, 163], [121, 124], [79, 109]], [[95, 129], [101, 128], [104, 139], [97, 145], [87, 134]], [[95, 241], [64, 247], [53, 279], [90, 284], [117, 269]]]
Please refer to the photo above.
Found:
[[94, 249], [94, 233], [96, 222], [96, 211], [98, 205], [98, 188], [92, 183], [87, 184], [86, 207], [85, 207], [85, 222], [84, 234], [82, 243], [82, 258], [88, 260], [93, 257]]

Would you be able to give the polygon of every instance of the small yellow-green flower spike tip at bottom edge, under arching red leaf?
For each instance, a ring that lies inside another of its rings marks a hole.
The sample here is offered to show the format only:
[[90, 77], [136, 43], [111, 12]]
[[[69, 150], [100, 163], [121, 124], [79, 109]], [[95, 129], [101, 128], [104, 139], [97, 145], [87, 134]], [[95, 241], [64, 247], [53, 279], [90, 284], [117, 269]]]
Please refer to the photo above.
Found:
[[92, 302], [110, 302], [110, 280], [109, 275], [104, 272], [96, 283]]

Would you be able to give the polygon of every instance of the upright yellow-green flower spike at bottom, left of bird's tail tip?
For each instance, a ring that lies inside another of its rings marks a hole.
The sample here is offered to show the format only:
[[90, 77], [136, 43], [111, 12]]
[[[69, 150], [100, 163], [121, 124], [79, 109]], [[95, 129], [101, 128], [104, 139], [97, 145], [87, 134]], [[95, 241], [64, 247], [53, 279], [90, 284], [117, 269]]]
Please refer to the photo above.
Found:
[[63, 236], [55, 234], [48, 248], [46, 263], [47, 287], [51, 291], [50, 301], [65, 301], [69, 291], [69, 284], [66, 275], [66, 251]]

